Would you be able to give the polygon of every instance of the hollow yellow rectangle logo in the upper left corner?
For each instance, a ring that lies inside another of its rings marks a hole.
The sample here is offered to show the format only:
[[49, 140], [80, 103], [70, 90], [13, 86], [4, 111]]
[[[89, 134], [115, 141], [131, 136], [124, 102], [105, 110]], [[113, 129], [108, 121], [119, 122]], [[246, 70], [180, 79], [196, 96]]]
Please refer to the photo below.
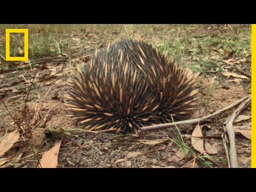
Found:
[[[24, 33], [24, 57], [10, 57], [10, 33]], [[28, 61], [28, 29], [6, 29], [5, 37], [5, 60]]]

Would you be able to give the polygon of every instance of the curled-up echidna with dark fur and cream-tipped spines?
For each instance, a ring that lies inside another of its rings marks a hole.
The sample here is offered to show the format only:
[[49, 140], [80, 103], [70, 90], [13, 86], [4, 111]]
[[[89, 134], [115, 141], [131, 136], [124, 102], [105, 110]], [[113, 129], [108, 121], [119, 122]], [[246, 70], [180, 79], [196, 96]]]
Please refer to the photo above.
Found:
[[196, 106], [194, 78], [152, 45], [125, 39], [96, 52], [78, 68], [67, 99], [86, 130], [137, 132], [172, 122]]

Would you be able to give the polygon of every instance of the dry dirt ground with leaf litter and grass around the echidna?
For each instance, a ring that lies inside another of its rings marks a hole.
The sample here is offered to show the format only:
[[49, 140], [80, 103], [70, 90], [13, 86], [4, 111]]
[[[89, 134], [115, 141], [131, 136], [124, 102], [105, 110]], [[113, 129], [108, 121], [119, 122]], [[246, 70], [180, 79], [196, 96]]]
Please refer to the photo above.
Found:
[[[38, 34], [40, 31], [31, 33]], [[171, 57], [174, 62], [189, 67], [197, 76], [200, 101], [191, 115], [212, 114], [251, 94], [251, 47], [243, 45], [251, 38], [249, 25], [159, 25], [143, 31], [126, 26], [124, 31], [111, 33], [65, 30], [53, 32], [52, 36], [57, 43], [53, 41], [48, 55], [39, 55], [39, 50], [38, 56], [31, 50], [35, 59], [30, 62], [0, 61], [0, 142], [17, 128], [13, 119], [23, 129], [19, 140], [0, 156], [7, 158], [4, 163], [0, 161], [0, 167], [36, 167], [45, 151], [60, 140], [58, 167], [228, 166], [221, 134], [223, 123], [236, 108], [200, 123], [204, 148], [216, 145], [209, 151], [212, 158], [207, 158], [197, 157], [200, 152], [191, 146], [196, 125], [179, 126], [180, 134], [175, 127], [140, 135], [90, 133], [66, 117], [69, 111], [64, 110], [63, 95], [70, 76], [76, 73], [76, 65], [86, 65], [95, 48], [130, 37], [153, 43], [164, 54], [177, 55]], [[0, 42], [5, 43], [4, 34]], [[242, 127], [245, 133], [236, 132], [238, 164], [251, 167], [251, 105], [240, 115], [242, 120], [234, 126]], [[184, 151], [188, 153], [185, 155]]]

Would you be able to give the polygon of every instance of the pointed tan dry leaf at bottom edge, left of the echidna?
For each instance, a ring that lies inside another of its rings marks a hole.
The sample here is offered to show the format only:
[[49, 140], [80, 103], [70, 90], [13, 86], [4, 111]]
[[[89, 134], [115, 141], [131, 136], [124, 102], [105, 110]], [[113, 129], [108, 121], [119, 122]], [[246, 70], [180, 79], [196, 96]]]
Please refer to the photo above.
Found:
[[61, 140], [54, 145], [49, 151], [46, 151], [40, 161], [42, 168], [56, 168], [58, 165], [58, 155]]

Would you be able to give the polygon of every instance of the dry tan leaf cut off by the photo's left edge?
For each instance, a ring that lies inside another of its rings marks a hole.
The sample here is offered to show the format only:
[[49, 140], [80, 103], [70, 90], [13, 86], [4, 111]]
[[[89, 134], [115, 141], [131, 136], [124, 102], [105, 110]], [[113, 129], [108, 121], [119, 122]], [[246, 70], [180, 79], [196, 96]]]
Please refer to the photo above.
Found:
[[2, 141], [0, 142], [0, 157], [4, 155], [4, 153], [12, 148], [13, 144], [18, 141], [20, 138], [19, 130], [16, 129], [11, 133], [7, 133], [3, 136]]

